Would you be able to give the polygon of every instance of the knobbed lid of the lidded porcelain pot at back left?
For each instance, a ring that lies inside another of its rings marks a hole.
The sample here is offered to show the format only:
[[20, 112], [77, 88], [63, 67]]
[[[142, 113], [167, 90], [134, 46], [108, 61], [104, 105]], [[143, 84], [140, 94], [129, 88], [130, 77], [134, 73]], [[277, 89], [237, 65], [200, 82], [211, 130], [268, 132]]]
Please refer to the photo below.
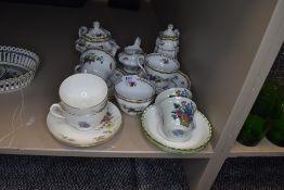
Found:
[[100, 22], [93, 22], [93, 27], [83, 36], [91, 41], [106, 41], [111, 39], [111, 33], [100, 26]]

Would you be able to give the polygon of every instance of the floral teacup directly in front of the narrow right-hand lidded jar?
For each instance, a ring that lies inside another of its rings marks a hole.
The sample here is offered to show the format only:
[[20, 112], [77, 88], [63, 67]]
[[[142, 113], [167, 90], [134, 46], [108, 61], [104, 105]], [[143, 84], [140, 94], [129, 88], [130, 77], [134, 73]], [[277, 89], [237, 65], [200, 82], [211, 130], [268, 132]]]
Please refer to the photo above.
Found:
[[155, 84], [157, 89], [168, 86], [169, 81], [175, 78], [180, 64], [177, 60], [160, 53], [151, 53], [145, 56], [145, 71], [149, 80]]

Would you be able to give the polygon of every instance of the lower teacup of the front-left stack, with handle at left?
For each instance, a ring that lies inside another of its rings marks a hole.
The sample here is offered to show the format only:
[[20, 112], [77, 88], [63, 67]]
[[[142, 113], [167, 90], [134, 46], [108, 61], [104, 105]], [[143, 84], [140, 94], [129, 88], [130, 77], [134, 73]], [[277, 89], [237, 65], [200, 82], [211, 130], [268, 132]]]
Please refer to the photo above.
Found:
[[50, 112], [55, 117], [66, 119], [73, 127], [79, 130], [89, 130], [99, 127], [107, 112], [107, 104], [94, 114], [75, 115], [66, 112], [59, 103], [54, 103], [50, 107]]

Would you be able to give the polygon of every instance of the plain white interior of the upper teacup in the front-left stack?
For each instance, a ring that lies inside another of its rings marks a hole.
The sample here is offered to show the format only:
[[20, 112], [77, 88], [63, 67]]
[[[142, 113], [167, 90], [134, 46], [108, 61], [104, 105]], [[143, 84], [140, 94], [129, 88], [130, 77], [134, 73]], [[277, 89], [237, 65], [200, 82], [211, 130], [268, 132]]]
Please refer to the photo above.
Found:
[[[99, 90], [98, 90], [99, 89]], [[75, 74], [60, 86], [60, 98], [77, 109], [88, 109], [100, 104], [107, 96], [105, 81], [92, 74]]]

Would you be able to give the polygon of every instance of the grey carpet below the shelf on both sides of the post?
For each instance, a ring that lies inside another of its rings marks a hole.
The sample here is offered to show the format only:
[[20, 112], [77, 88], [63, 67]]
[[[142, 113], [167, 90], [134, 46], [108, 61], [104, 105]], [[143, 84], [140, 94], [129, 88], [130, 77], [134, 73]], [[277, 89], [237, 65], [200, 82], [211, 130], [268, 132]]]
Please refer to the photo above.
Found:
[[[0, 155], [0, 190], [189, 190], [180, 160]], [[211, 190], [283, 190], [284, 157], [228, 159]]]

